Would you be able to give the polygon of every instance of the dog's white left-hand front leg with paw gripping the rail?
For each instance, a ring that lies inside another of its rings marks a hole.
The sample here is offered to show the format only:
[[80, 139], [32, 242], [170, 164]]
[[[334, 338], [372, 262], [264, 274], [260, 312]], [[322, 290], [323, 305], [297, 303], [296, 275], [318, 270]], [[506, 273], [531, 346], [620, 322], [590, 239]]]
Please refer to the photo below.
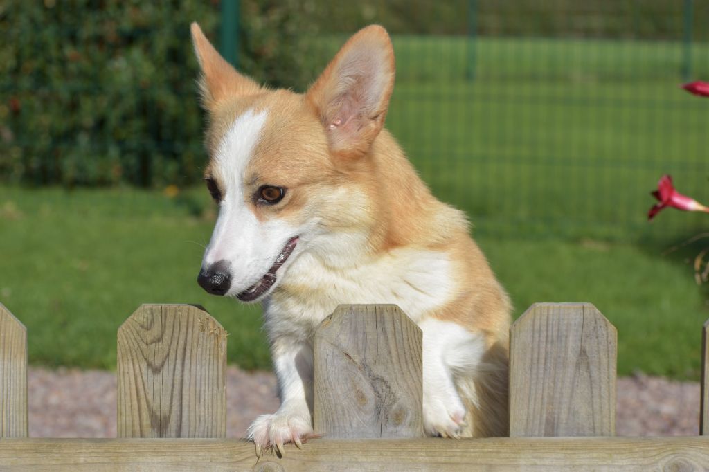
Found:
[[272, 415], [261, 415], [248, 429], [257, 454], [272, 447], [283, 454], [283, 444], [313, 437], [313, 349], [306, 342], [287, 337], [274, 339], [274, 367], [281, 407]]

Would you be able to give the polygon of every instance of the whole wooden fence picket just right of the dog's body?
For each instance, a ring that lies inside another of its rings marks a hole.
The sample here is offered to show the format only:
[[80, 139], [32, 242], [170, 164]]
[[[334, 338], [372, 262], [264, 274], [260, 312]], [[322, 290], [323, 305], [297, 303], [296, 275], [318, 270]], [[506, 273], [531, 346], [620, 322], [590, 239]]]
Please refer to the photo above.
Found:
[[590, 303], [536, 303], [510, 329], [510, 437], [615, 434], [615, 327]]

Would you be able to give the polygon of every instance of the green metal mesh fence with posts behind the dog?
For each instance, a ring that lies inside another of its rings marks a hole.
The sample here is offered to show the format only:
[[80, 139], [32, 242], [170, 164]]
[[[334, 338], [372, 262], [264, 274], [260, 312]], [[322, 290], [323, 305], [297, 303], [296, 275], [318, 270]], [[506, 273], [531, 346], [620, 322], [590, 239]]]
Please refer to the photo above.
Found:
[[[144, 186], [199, 179], [189, 21], [246, 72], [303, 89], [351, 34], [389, 28], [386, 125], [476, 231], [681, 237], [647, 225], [662, 174], [709, 202], [709, 4], [691, 0], [99, 2], [0, 10], [0, 177]], [[291, 81], [291, 82], [289, 82]]]

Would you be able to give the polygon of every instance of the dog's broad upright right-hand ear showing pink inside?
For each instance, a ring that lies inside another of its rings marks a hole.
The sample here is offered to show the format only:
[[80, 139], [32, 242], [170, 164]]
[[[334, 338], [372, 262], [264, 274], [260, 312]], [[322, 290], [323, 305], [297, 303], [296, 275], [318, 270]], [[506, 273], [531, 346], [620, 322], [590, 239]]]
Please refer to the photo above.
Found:
[[359, 30], [306, 94], [334, 154], [359, 156], [379, 134], [394, 84], [394, 52], [386, 30]]

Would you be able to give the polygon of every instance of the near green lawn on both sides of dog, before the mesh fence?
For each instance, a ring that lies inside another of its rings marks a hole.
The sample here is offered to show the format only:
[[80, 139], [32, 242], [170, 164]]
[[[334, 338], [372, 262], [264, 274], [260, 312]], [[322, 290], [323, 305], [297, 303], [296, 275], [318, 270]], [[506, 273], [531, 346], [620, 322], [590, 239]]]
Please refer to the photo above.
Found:
[[[141, 303], [199, 303], [230, 333], [229, 361], [269, 369], [259, 308], [196, 284], [206, 191], [0, 188], [0, 301], [28, 328], [30, 361], [113, 369], [116, 330]], [[707, 318], [686, 254], [595, 240], [477, 238], [515, 304], [588, 301], [618, 327], [619, 372], [696, 378]]]

